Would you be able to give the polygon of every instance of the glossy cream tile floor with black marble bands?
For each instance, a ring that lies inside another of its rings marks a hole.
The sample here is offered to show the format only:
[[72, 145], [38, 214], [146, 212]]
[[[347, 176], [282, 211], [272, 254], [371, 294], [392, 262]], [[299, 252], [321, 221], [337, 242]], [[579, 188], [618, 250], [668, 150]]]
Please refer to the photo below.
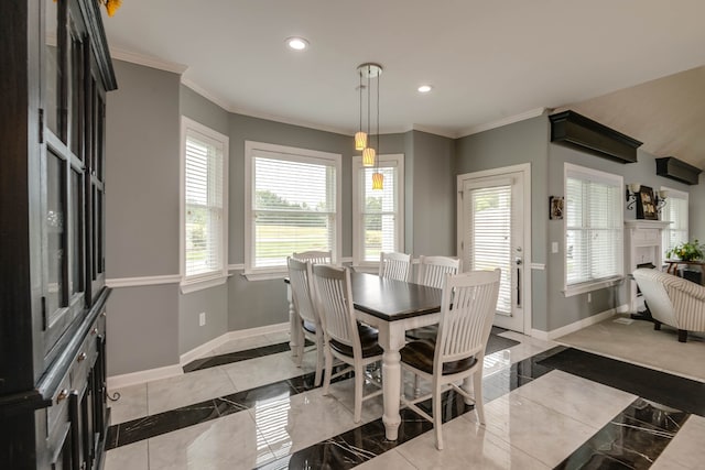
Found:
[[205, 369], [111, 390], [105, 469], [703, 468], [703, 381], [501, 336], [520, 342], [486, 357], [486, 426], [449, 394], [443, 451], [408, 409], [387, 441], [381, 397], [352, 423], [352, 381], [324, 396], [315, 352], [296, 368], [283, 332], [218, 348]]

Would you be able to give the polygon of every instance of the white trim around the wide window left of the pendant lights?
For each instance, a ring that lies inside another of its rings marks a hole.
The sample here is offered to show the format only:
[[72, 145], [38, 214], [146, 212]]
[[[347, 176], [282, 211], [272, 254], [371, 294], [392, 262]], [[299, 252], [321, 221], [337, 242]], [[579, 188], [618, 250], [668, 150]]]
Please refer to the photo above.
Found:
[[264, 142], [245, 141], [245, 271], [248, 281], [283, 278], [286, 275], [286, 265], [274, 267], [252, 267], [252, 251], [254, 243], [254, 223], [252, 214], [252, 174], [254, 165], [252, 160], [256, 151], [281, 153], [292, 155], [299, 161], [310, 163], [330, 164], [335, 167], [335, 247], [332, 247], [333, 260], [338, 262], [343, 249], [343, 155], [339, 153], [323, 152], [318, 150], [279, 145]]

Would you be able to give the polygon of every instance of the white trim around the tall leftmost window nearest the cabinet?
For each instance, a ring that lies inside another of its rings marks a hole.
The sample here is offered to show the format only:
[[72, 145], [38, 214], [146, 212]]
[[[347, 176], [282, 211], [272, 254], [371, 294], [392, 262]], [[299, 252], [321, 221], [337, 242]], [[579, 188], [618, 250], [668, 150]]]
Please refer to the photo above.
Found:
[[[216, 271], [205, 274], [186, 275], [186, 133], [193, 131], [214, 140], [223, 145], [223, 229], [220, 232], [220, 245], [223, 256]], [[229, 201], [229, 141], [230, 139], [193, 119], [181, 117], [181, 164], [180, 164], [180, 288], [182, 294], [215, 287], [225, 284], [229, 276], [228, 272], [228, 201]]]

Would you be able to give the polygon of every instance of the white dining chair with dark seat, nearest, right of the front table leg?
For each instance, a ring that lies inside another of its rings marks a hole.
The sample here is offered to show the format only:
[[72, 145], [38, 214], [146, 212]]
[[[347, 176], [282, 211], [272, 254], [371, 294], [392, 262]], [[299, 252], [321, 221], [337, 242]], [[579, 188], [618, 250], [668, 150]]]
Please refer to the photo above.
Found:
[[[438, 450], [443, 449], [443, 392], [455, 390], [463, 395], [466, 403], [475, 405], [478, 422], [485, 424], [482, 362], [497, 309], [499, 278], [499, 269], [448, 276], [443, 287], [438, 336], [435, 340], [411, 341], [400, 351], [402, 368], [431, 382], [431, 393], [408, 400], [402, 392], [401, 401], [433, 423]], [[463, 386], [458, 386], [460, 381]], [[430, 396], [433, 416], [417, 406]]]

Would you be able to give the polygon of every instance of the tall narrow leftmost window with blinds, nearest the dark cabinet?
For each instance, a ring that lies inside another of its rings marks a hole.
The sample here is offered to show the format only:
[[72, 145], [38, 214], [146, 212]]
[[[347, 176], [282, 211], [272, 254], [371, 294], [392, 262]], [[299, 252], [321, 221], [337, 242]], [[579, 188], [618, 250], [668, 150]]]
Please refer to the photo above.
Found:
[[223, 284], [227, 264], [228, 138], [182, 117], [182, 292]]

